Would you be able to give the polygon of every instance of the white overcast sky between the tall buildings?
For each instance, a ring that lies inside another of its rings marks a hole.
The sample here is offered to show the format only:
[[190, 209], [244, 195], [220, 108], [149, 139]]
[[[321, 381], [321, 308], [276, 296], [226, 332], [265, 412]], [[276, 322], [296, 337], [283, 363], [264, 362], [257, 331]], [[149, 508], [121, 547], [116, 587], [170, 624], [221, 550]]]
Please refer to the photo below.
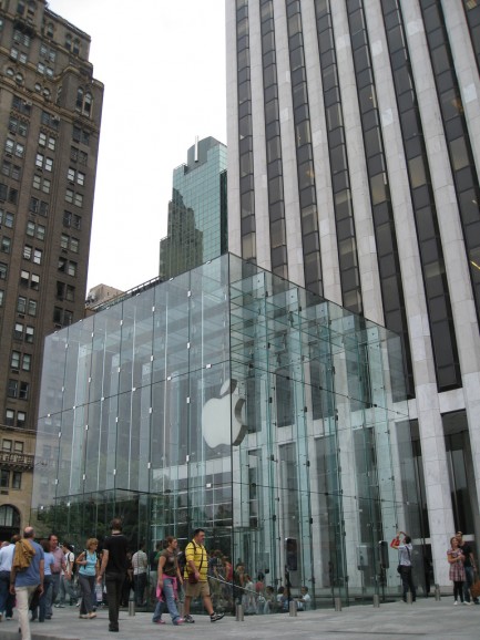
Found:
[[224, 0], [50, 0], [92, 38], [105, 85], [88, 289], [157, 276], [172, 172], [212, 135], [226, 144]]

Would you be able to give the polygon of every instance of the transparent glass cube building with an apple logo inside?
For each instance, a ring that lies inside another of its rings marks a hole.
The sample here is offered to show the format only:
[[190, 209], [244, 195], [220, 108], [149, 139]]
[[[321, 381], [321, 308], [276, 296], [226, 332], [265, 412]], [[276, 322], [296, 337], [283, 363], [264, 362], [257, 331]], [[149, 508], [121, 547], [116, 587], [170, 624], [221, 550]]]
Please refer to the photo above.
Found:
[[39, 530], [203, 527], [316, 606], [398, 596], [397, 528], [421, 557], [399, 338], [229, 254], [47, 339], [37, 461]]

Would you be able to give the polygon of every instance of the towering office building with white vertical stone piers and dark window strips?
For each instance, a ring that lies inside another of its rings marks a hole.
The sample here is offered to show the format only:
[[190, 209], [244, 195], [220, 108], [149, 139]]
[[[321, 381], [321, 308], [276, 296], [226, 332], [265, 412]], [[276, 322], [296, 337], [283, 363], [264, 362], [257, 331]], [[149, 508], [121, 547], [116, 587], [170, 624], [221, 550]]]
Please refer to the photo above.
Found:
[[226, 20], [229, 250], [401, 337], [446, 584], [451, 533], [480, 534], [480, 3], [226, 0]]

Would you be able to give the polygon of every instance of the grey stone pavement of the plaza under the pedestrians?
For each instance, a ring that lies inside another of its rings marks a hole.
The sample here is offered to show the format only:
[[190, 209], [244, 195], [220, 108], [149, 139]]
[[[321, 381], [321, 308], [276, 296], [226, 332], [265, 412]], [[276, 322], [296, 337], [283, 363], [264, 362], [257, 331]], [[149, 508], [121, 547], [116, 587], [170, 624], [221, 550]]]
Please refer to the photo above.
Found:
[[[425, 638], [435, 640], [478, 640], [480, 638], [480, 606], [453, 607], [451, 597], [440, 601], [432, 598], [420, 599], [413, 605], [391, 602], [374, 608], [370, 605], [353, 606], [341, 611], [319, 609], [272, 616], [246, 616], [237, 622], [232, 616], [212, 623], [206, 616], [195, 616], [195, 624], [173, 627], [170, 617], [167, 624], [152, 623], [151, 613], [136, 613], [129, 617], [127, 611], [120, 613], [120, 633], [109, 632], [108, 611], [98, 611], [94, 620], [79, 619], [78, 609], [70, 607], [54, 609], [52, 620], [42, 624], [31, 622], [32, 640], [168, 640], [186, 638], [225, 640], [242, 638], [259, 640], [400, 640]], [[0, 623], [0, 640], [19, 640], [18, 621]]]

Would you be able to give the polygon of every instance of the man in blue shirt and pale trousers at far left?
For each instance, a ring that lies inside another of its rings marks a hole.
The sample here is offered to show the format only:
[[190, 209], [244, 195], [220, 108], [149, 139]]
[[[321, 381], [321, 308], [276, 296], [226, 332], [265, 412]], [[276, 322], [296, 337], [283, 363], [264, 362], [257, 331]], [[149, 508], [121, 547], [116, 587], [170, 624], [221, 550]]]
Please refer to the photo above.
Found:
[[10, 593], [17, 598], [22, 640], [31, 640], [29, 602], [35, 591], [40, 598], [43, 593], [44, 553], [34, 535], [33, 527], [25, 527], [23, 538], [16, 544], [10, 571]]

